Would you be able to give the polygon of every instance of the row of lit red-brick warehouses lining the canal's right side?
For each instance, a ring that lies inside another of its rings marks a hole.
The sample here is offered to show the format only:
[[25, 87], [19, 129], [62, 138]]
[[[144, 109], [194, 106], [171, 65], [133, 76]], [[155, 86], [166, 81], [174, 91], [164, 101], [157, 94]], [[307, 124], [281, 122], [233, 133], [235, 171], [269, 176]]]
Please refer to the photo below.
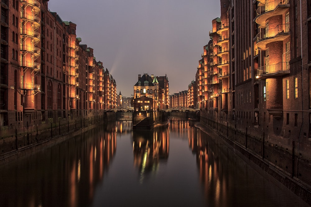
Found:
[[221, 0], [220, 6], [193, 88], [202, 121], [311, 185], [310, 4]]

